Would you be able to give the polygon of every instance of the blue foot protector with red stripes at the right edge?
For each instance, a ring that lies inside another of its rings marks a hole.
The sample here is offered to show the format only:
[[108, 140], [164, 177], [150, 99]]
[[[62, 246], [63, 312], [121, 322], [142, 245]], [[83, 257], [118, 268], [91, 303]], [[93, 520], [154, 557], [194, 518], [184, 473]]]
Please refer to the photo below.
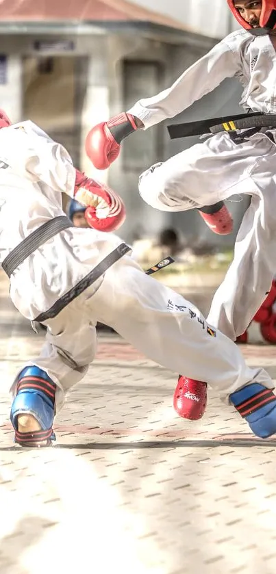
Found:
[[254, 382], [232, 393], [229, 399], [256, 436], [267, 439], [276, 433], [276, 396], [272, 389]]

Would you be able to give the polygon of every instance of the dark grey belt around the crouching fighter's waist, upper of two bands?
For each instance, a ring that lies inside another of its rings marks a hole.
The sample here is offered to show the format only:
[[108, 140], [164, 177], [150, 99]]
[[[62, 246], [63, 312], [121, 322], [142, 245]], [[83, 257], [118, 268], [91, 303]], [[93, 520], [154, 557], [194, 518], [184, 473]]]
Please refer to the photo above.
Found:
[[42, 246], [57, 233], [60, 233], [60, 231], [68, 229], [68, 227], [73, 227], [71, 220], [66, 216], [58, 216], [57, 218], [49, 219], [30, 233], [28, 237], [25, 237], [3, 260], [2, 268], [8, 277], [38, 247]]

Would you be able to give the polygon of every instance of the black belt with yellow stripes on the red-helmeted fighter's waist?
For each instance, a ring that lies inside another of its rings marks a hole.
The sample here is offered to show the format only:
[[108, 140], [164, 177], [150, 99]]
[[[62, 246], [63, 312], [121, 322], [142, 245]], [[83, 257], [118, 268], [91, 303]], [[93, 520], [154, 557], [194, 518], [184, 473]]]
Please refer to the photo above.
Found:
[[221, 131], [236, 131], [237, 129], [249, 129], [276, 127], [276, 114], [239, 114], [238, 116], [222, 116], [221, 118], [211, 118], [210, 120], [200, 120], [198, 122], [188, 122], [187, 124], [171, 124], [168, 126], [168, 133], [171, 140], [177, 138], [188, 138], [191, 135], [203, 135], [205, 133], [219, 133]]

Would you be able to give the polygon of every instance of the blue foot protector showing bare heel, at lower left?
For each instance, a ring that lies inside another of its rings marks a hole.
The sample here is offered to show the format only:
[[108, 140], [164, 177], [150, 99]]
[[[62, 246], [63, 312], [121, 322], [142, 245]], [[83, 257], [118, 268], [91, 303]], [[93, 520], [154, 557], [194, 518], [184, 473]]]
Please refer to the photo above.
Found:
[[[55, 441], [52, 429], [55, 415], [56, 385], [39, 367], [25, 367], [18, 376], [16, 396], [12, 402], [10, 420], [15, 430], [14, 441], [22, 446], [47, 445]], [[18, 415], [33, 415], [40, 424], [41, 430], [34, 432], [18, 431]]]

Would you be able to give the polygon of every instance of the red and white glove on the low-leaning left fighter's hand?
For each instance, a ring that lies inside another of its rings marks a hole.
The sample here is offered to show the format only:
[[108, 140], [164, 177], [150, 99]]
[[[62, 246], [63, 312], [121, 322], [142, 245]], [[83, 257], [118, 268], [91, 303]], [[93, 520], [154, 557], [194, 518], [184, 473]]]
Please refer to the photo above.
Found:
[[115, 231], [125, 221], [125, 205], [118, 194], [103, 183], [76, 170], [74, 198], [86, 205], [88, 225], [98, 231]]

